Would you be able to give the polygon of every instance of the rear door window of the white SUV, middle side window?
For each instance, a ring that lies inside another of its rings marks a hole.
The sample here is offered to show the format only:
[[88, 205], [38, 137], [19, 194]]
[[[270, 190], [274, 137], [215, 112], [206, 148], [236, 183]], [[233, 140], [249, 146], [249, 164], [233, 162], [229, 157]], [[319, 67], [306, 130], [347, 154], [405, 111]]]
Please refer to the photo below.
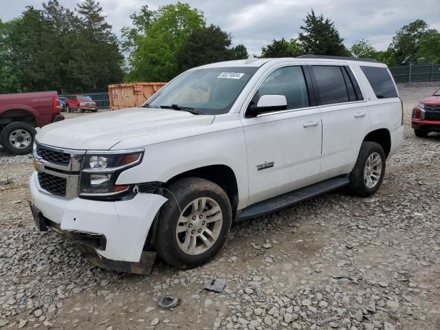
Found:
[[313, 66], [320, 104], [349, 102], [349, 94], [340, 67]]

